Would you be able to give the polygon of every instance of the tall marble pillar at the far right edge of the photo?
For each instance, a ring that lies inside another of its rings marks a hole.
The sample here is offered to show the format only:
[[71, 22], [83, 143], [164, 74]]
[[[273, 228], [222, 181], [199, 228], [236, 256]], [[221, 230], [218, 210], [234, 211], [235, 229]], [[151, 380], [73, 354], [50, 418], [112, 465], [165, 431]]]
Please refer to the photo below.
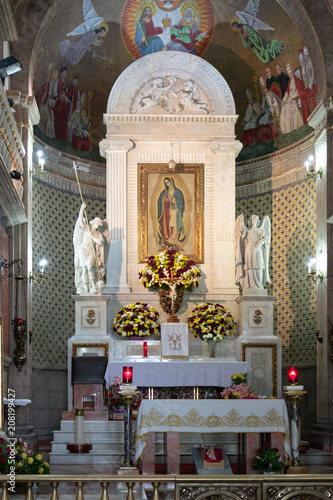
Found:
[[310, 445], [333, 451], [333, 98], [324, 99], [311, 115], [315, 129], [317, 177], [317, 325], [322, 343], [317, 343], [317, 423], [310, 433]]

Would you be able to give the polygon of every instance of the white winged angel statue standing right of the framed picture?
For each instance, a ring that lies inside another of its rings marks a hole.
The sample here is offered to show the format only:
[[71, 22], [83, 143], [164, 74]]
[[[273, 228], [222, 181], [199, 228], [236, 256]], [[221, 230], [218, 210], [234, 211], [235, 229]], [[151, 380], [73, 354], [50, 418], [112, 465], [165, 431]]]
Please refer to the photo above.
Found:
[[234, 246], [236, 260], [236, 283], [246, 295], [247, 290], [263, 290], [270, 283], [268, 273], [269, 249], [271, 245], [271, 222], [268, 215], [259, 225], [258, 215], [251, 215], [248, 227], [244, 215], [236, 219]]

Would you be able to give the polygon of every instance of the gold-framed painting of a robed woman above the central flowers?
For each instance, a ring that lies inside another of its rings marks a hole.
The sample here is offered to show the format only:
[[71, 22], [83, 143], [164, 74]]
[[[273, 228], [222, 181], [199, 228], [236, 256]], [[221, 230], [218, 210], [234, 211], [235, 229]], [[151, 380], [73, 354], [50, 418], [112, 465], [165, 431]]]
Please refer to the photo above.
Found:
[[138, 165], [138, 259], [175, 249], [204, 262], [204, 165]]

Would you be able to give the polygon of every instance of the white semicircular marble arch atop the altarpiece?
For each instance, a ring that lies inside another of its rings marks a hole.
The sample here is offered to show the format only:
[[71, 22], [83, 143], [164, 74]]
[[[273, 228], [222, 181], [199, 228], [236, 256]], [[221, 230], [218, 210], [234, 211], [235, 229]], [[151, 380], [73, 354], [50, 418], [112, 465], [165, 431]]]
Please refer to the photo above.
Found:
[[[194, 103], [192, 108], [185, 106], [182, 110], [173, 109], [173, 114], [214, 114], [223, 116], [234, 116], [236, 114], [233, 95], [221, 73], [204, 59], [182, 52], [157, 52], [134, 61], [115, 82], [109, 96], [107, 113], [136, 113], [135, 104], [138, 96], [145, 96], [144, 92], [146, 92], [148, 99], [151, 96], [149, 88], [152, 86], [156, 86], [157, 92], [158, 85], [163, 85], [160, 88], [166, 89], [164, 93], [166, 99], [167, 90], [169, 88], [173, 90], [171, 88], [172, 79], [175, 80], [175, 83], [178, 82], [177, 92], [185, 92], [185, 90], [179, 88], [179, 84], [186, 89], [186, 82], [191, 81], [194, 88], [197, 89], [195, 101], [197, 103], [201, 101], [200, 104], [202, 105], [206, 104], [206, 108], [194, 108]], [[156, 112], [160, 114], [161, 106], [157, 102], [158, 99], [156, 99], [156, 105], [154, 105], [151, 98], [151, 106], [149, 108], [147, 108], [148, 104], [146, 107], [142, 106], [139, 111], [149, 109], [152, 114], [156, 114]], [[162, 109], [166, 114], [166, 108]]]

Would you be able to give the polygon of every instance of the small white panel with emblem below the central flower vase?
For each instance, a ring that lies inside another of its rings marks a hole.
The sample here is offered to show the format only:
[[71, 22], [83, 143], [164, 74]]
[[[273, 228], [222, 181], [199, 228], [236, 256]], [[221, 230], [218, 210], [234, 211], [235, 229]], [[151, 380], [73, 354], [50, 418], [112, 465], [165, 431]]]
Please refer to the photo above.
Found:
[[188, 359], [188, 326], [186, 323], [161, 324], [161, 350], [164, 359]]

